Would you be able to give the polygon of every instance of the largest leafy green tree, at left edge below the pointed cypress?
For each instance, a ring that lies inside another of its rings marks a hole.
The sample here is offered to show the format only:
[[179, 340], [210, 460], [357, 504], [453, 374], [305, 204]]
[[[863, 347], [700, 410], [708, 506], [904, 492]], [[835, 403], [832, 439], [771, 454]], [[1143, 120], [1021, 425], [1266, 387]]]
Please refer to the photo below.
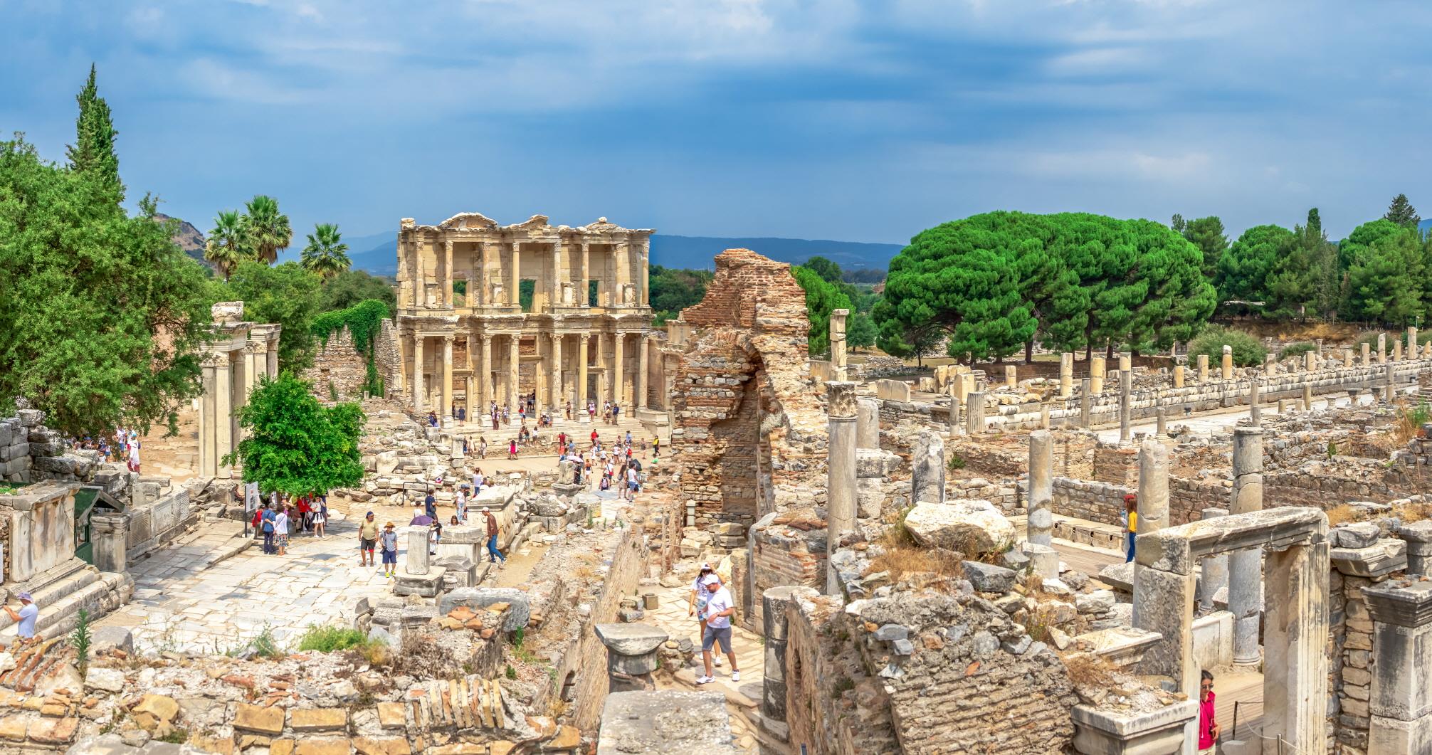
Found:
[[0, 395], [27, 397], [70, 436], [173, 430], [200, 393], [206, 274], [170, 241], [178, 221], [155, 218], [156, 199], [133, 216], [115, 199], [105, 170], [0, 142]]

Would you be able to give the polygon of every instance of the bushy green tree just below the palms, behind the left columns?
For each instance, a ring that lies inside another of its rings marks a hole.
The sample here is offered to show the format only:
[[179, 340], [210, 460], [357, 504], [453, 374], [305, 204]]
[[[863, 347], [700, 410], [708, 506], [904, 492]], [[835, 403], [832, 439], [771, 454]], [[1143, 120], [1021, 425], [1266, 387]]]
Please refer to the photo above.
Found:
[[278, 322], [278, 364], [299, 372], [314, 361], [314, 315], [318, 314], [321, 284], [298, 262], [282, 265], [243, 262], [229, 278], [225, 297], [243, 301], [243, 318]]

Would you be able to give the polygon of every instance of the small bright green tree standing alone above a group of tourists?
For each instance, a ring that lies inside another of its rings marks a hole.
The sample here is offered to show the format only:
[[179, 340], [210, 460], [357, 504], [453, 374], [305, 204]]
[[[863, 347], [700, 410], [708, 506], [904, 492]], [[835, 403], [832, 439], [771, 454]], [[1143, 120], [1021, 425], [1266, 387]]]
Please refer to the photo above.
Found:
[[242, 463], [243, 481], [258, 483], [265, 494], [326, 494], [362, 481], [362, 410], [358, 404], [324, 407], [311, 388], [291, 374], [262, 377], [239, 410], [248, 437], [223, 461]]

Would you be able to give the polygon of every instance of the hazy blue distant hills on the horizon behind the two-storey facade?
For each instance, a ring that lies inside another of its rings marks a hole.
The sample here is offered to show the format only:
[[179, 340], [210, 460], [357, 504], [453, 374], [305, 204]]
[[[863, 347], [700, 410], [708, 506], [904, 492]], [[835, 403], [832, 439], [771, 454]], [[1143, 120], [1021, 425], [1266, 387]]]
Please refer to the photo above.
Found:
[[[398, 274], [398, 235], [344, 238], [348, 259], [357, 269], [372, 275]], [[368, 246], [368, 242], [372, 242]], [[713, 269], [715, 258], [726, 249], [755, 249], [780, 262], [799, 264], [812, 256], [825, 256], [842, 269], [881, 269], [904, 249], [901, 244], [866, 244], [859, 241], [782, 239], [782, 238], [722, 238], [722, 236], [652, 236], [652, 264], [666, 268]]]

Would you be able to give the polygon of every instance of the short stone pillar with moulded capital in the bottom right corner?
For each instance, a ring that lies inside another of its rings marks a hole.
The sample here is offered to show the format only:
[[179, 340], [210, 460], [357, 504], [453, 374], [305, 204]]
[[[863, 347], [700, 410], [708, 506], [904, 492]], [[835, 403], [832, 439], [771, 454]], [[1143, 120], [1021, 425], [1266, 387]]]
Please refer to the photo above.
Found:
[[1372, 615], [1368, 755], [1432, 752], [1432, 582], [1362, 589]]

